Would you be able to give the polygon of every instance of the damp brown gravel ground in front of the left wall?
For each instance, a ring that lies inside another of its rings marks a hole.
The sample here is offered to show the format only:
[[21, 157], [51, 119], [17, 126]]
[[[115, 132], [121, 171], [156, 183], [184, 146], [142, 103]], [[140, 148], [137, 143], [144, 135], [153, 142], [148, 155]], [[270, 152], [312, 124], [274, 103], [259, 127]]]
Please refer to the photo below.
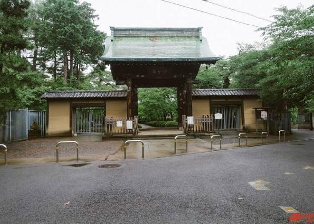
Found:
[[[80, 160], [105, 160], [110, 154], [116, 153], [123, 141], [102, 141], [102, 134], [78, 135], [73, 137], [37, 138], [7, 144], [9, 163], [54, 162], [56, 159], [55, 146], [59, 141], [77, 141], [79, 144]], [[59, 146], [60, 161], [76, 159], [75, 144]], [[0, 164], [4, 153], [0, 150]]]

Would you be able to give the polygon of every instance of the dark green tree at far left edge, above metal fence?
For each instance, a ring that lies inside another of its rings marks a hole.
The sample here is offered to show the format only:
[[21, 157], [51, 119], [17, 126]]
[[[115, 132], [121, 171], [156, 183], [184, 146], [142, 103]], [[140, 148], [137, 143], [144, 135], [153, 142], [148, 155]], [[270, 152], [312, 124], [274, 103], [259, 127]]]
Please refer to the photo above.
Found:
[[31, 71], [21, 56], [29, 47], [25, 38], [28, 0], [0, 0], [0, 113], [25, 106], [40, 107], [44, 76]]

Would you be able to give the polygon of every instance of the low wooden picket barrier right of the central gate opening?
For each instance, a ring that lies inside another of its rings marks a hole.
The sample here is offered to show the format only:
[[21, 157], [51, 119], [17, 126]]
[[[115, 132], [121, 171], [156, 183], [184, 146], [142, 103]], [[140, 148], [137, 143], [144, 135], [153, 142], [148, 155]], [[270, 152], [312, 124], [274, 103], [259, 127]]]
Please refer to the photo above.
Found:
[[213, 116], [193, 116], [193, 123], [187, 123], [187, 116], [182, 115], [182, 131], [183, 133], [199, 133], [199, 132], [213, 132]]

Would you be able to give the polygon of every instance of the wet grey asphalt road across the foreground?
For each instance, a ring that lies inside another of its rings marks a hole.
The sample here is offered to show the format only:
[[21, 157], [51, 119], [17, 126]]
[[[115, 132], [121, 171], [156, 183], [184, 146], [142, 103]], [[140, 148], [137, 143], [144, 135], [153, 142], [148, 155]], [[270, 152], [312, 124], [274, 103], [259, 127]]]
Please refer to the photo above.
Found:
[[[314, 166], [313, 146], [307, 140], [118, 161], [110, 169], [98, 165], [112, 161], [0, 166], [0, 223], [289, 223], [279, 206], [314, 212], [314, 170], [302, 169]], [[248, 184], [258, 179], [271, 190]]]

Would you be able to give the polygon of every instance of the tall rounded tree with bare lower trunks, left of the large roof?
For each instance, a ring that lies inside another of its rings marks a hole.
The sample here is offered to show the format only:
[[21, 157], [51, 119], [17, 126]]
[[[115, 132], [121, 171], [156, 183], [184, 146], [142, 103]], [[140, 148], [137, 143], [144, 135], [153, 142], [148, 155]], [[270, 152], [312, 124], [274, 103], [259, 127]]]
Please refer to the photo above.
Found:
[[48, 52], [62, 55], [65, 82], [74, 73], [79, 80], [81, 72], [97, 63], [103, 52], [105, 34], [97, 30], [94, 12], [89, 3], [80, 4], [78, 0], [43, 2], [39, 40]]

